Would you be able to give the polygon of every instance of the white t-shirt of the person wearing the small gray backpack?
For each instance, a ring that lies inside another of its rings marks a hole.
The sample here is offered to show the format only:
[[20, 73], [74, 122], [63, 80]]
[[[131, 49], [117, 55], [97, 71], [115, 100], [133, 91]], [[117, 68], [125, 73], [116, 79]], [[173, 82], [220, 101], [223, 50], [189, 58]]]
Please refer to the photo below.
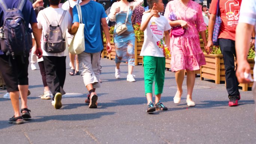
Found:
[[[43, 29], [42, 30], [42, 35], [45, 36], [46, 31], [49, 28], [49, 25], [46, 22], [46, 19], [43, 17], [42, 12], [45, 13], [46, 17], [48, 18], [50, 24], [54, 21], [53, 24], [56, 24], [60, 21], [61, 16], [63, 15], [64, 10], [61, 8], [52, 8], [52, 7], [47, 7], [43, 10], [41, 10], [38, 13], [37, 16], [37, 26], [39, 29]], [[62, 36], [65, 38], [66, 40], [66, 49], [64, 50], [64, 52], [60, 52], [60, 53], [48, 53], [45, 52], [44, 50], [44, 45], [43, 45], [43, 41], [41, 41], [41, 48], [43, 50], [43, 56], [67, 56], [68, 55], [68, 45], [67, 45], [67, 37], [66, 37], [66, 33], [65, 31], [67, 30], [67, 28], [71, 28], [72, 27], [72, 18], [70, 16], [70, 13], [67, 11], [63, 21], [60, 24], [61, 30], [62, 30]]]

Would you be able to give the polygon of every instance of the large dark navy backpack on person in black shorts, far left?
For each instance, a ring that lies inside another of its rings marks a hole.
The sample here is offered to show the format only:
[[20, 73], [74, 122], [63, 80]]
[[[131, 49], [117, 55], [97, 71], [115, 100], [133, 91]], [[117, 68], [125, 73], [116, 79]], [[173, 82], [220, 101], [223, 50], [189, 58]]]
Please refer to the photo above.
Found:
[[[32, 48], [32, 36], [31, 29], [26, 26], [22, 9], [26, 0], [19, 0], [18, 7], [7, 9], [6, 3], [0, 0], [0, 6], [4, 12], [3, 15], [3, 27], [1, 27], [1, 50], [6, 52], [6, 55], [12, 55], [15, 59], [15, 55], [26, 56]], [[22, 58], [22, 62], [24, 60]]]

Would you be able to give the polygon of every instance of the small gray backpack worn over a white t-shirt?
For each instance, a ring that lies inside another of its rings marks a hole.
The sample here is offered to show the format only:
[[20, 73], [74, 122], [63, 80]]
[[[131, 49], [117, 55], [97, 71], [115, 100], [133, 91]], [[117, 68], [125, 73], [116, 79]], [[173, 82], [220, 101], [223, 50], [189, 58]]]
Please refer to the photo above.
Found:
[[48, 18], [46, 17], [45, 13], [42, 10], [43, 17], [45, 18], [47, 25], [49, 26], [46, 34], [43, 38], [43, 49], [46, 52], [49, 53], [60, 53], [63, 52], [66, 49], [66, 41], [65, 37], [62, 36], [62, 30], [61, 30], [61, 22], [64, 19], [64, 16], [66, 14], [66, 10], [64, 10], [60, 22], [58, 22], [57, 26], [52, 26], [53, 21], [50, 23]]

